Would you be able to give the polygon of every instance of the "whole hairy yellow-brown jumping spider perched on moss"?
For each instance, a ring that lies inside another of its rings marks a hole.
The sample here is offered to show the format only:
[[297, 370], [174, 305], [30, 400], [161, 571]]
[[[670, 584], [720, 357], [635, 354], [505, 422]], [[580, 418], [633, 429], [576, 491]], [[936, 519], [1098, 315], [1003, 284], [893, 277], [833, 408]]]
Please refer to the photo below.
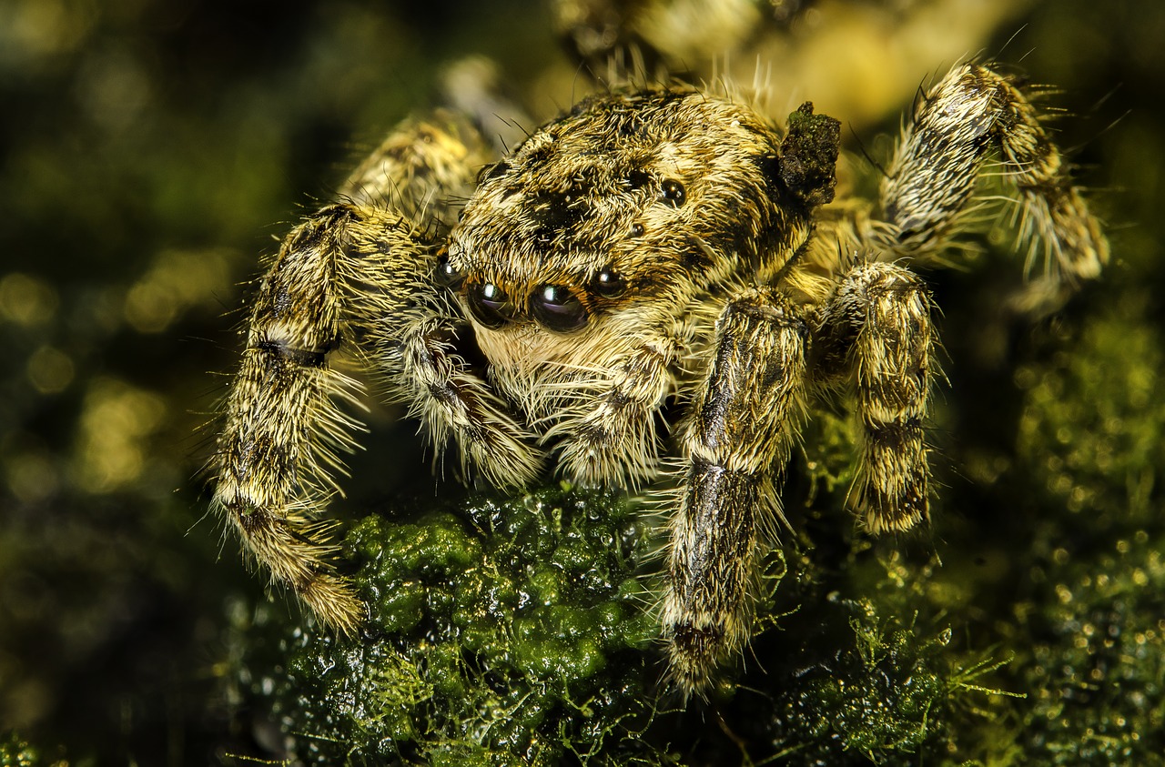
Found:
[[405, 122], [261, 282], [214, 505], [323, 624], [361, 623], [312, 521], [359, 429], [340, 405], [361, 389], [330, 363], [351, 347], [466, 476], [655, 493], [670, 672], [700, 693], [748, 639], [806, 402], [853, 395], [870, 533], [927, 519], [937, 341], [908, 267], [949, 254], [984, 168], [1014, 186], [1048, 284], [1108, 258], [1036, 109], [988, 66], [920, 95], [876, 203], [829, 205], [839, 133], [810, 104], [782, 128], [678, 86], [584, 99], [502, 159], [467, 119]]

